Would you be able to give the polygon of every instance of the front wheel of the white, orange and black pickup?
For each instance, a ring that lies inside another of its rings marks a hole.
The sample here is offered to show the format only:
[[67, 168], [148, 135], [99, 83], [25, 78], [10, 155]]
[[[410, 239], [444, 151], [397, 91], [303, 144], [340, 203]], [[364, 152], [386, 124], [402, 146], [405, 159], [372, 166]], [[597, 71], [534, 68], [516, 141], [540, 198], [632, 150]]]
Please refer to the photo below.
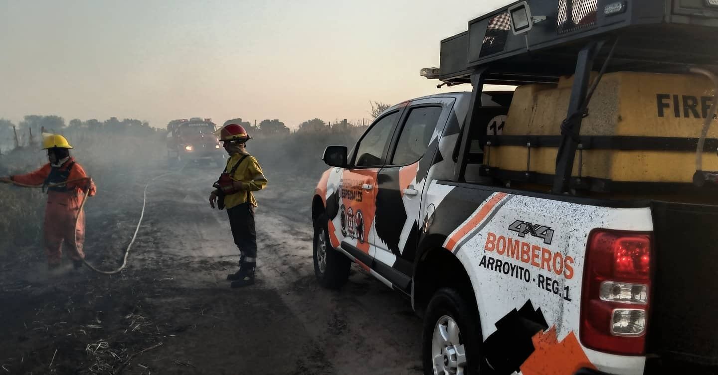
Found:
[[338, 289], [347, 283], [352, 261], [332, 247], [327, 222], [322, 214], [314, 223], [314, 275], [323, 287]]

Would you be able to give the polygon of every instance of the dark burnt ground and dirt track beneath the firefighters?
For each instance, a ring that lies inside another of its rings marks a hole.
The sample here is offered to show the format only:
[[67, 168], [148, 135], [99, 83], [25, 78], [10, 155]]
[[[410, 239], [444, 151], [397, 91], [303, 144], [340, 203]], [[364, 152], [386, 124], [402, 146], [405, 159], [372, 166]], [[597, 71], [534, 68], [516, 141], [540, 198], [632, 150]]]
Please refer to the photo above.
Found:
[[[210, 209], [215, 168], [149, 186], [119, 275], [45, 270], [41, 247], [0, 260], [0, 374], [420, 374], [409, 301], [353, 267], [342, 290], [314, 280], [314, 181], [268, 173], [258, 194], [258, 283], [229, 288], [238, 252]], [[146, 172], [117, 169], [88, 201], [88, 260], [121, 262]]]

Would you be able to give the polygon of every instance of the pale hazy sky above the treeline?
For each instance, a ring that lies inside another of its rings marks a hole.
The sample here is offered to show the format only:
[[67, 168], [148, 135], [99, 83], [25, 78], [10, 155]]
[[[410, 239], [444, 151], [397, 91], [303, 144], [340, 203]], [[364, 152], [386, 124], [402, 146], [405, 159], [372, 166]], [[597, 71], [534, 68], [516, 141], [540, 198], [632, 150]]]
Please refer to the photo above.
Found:
[[0, 118], [365, 118], [441, 92], [439, 41], [510, 2], [0, 0]]

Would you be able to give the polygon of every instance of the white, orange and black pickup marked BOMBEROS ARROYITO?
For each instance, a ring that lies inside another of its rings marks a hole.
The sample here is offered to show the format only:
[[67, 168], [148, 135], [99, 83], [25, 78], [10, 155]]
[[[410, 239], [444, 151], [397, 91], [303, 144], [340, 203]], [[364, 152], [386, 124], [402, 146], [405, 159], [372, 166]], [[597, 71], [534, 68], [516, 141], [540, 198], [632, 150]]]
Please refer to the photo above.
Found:
[[472, 19], [421, 70], [470, 91], [325, 150], [317, 280], [409, 298], [427, 375], [718, 374], [717, 46], [718, 0]]

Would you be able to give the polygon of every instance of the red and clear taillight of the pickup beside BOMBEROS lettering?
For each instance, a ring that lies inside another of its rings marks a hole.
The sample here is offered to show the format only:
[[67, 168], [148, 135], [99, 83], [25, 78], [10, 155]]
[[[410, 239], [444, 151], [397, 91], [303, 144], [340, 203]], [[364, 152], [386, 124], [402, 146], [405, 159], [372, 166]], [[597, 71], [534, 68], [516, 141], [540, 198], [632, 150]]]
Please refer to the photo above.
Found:
[[607, 353], [645, 352], [651, 292], [651, 234], [595, 229], [589, 235], [581, 342]]

